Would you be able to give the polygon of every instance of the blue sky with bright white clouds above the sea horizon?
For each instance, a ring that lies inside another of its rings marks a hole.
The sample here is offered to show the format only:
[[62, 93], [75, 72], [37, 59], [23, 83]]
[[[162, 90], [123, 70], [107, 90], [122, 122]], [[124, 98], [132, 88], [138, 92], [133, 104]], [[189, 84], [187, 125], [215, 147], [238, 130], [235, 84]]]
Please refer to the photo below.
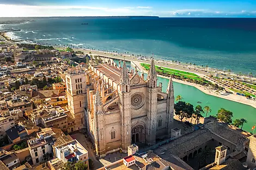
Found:
[[0, 0], [0, 8], [0, 17], [256, 17], [256, 0]]

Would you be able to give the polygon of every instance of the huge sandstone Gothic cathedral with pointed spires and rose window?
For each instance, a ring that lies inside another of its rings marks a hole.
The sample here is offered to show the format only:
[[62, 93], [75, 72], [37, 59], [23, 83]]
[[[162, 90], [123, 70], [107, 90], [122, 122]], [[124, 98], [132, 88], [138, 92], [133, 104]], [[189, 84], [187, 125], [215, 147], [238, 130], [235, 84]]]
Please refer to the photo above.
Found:
[[[132, 143], [153, 145], [158, 138], [170, 137], [174, 114], [172, 78], [167, 92], [162, 92], [156, 76], [154, 59], [146, 80], [137, 70], [129, 72], [125, 61], [123, 67], [110, 62], [97, 66], [92, 63], [85, 71], [86, 91], [82, 88], [81, 93], [74, 94], [86, 96], [86, 100], [79, 98], [84, 107], [85, 126], [98, 156], [117, 150], [127, 152]], [[79, 108], [81, 102], [74, 105]], [[77, 118], [80, 123], [81, 118], [82, 113]]]

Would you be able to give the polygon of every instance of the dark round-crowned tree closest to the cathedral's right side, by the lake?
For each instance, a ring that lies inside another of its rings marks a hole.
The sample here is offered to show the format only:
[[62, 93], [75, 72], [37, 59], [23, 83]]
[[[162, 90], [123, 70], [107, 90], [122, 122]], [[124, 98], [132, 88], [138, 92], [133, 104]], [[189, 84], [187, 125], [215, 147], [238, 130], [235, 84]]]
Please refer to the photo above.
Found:
[[174, 105], [175, 114], [179, 116], [180, 121], [184, 118], [191, 118], [194, 112], [193, 105], [190, 103], [179, 101]]

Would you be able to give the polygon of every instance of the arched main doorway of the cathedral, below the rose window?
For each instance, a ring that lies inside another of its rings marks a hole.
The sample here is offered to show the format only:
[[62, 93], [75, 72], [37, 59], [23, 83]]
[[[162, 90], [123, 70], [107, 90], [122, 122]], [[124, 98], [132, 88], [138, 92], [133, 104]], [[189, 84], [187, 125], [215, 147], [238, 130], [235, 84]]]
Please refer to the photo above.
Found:
[[132, 128], [132, 143], [145, 143], [145, 128], [138, 124]]

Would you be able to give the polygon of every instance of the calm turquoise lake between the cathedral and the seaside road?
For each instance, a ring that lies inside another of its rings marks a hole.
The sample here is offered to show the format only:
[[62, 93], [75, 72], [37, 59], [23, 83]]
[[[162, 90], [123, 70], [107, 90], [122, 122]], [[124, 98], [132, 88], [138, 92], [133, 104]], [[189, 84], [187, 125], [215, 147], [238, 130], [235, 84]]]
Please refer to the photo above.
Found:
[[[168, 79], [158, 77], [158, 82], [163, 83], [163, 91], [166, 91], [168, 85]], [[256, 123], [256, 109], [252, 106], [233, 102], [231, 100], [206, 95], [204, 92], [198, 90], [196, 87], [173, 82], [174, 96], [181, 95], [185, 102], [191, 103], [195, 106], [201, 105], [204, 107], [208, 105], [211, 107], [212, 112], [208, 115], [216, 115], [220, 108], [230, 110], [233, 112], [233, 120], [236, 118], [245, 118], [248, 123], [243, 125], [243, 129], [252, 132], [251, 128]], [[198, 101], [202, 103], [197, 103]], [[203, 115], [205, 116], [205, 115]]]

